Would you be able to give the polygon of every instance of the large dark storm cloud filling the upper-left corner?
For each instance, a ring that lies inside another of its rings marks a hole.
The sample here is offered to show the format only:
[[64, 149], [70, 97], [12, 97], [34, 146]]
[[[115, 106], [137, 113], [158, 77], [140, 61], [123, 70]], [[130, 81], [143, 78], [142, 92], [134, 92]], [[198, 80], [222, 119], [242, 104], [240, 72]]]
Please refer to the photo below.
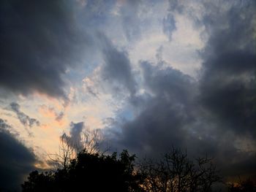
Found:
[[0, 86], [64, 96], [62, 78], [85, 39], [69, 1], [1, 1]]

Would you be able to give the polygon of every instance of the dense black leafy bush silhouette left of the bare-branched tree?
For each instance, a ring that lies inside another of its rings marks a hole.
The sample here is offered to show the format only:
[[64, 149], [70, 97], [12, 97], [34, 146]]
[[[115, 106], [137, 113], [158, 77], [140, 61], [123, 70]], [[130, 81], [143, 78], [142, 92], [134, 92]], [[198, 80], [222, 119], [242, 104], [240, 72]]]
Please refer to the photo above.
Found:
[[118, 157], [78, 153], [67, 168], [29, 174], [24, 192], [31, 191], [140, 191], [140, 176], [134, 172], [135, 155], [124, 150]]

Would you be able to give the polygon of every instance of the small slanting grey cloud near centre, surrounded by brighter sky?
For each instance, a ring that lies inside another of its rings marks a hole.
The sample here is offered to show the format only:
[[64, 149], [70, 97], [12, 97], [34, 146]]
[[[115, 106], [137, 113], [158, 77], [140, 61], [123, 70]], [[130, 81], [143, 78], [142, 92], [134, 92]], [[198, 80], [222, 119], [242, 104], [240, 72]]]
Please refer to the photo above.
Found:
[[103, 79], [113, 83], [113, 85], [121, 85], [129, 93], [134, 94], [136, 82], [132, 75], [132, 68], [127, 53], [118, 50], [106, 37], [102, 36], [101, 39], [104, 44], [102, 53], [105, 61], [102, 69]]

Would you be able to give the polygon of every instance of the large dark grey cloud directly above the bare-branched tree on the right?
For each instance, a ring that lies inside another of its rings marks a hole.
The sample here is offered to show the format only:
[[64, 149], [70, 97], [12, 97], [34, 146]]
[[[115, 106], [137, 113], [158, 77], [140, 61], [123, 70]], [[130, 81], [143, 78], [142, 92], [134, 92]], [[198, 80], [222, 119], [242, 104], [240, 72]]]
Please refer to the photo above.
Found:
[[202, 107], [197, 81], [170, 67], [162, 69], [148, 62], [141, 65], [144, 88], [150, 96], [143, 100], [135, 119], [114, 122], [112, 128], [108, 125], [105, 135], [114, 146], [155, 158], [172, 146], [180, 147], [192, 157], [214, 157], [225, 177], [256, 178], [249, 171], [255, 167], [255, 154], [238, 150], [233, 142], [240, 136], [230, 134], [221, 121], [206, 112], [208, 108]]

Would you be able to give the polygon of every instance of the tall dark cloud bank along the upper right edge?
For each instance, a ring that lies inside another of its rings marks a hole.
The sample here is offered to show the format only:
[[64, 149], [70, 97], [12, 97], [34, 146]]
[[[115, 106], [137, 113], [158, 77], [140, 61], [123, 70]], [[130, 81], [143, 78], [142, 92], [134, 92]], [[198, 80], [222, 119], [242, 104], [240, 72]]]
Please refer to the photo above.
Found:
[[206, 7], [211, 12], [203, 22], [211, 37], [201, 53], [202, 104], [223, 123], [221, 128], [256, 136], [256, 4], [244, 1], [219, 15], [217, 7]]

